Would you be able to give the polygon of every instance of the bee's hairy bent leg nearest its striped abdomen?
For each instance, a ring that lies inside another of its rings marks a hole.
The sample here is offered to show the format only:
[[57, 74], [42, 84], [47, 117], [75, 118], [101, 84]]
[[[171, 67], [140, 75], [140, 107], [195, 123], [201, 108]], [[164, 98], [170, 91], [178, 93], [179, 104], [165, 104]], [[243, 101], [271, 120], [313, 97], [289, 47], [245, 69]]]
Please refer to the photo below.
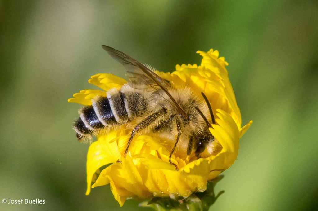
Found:
[[125, 149], [124, 157], [126, 157], [128, 151], [129, 151], [129, 145], [131, 144], [131, 141], [133, 140], [133, 137], [136, 133], [140, 132], [143, 129], [146, 129], [149, 125], [151, 125], [153, 122], [157, 121], [158, 118], [160, 118], [162, 115], [167, 114], [167, 109], [165, 107], [162, 107], [159, 111], [156, 111], [155, 113], [150, 114], [147, 116], [142, 122], [139, 122], [133, 131], [131, 131], [130, 138], [127, 143], [127, 147]]

